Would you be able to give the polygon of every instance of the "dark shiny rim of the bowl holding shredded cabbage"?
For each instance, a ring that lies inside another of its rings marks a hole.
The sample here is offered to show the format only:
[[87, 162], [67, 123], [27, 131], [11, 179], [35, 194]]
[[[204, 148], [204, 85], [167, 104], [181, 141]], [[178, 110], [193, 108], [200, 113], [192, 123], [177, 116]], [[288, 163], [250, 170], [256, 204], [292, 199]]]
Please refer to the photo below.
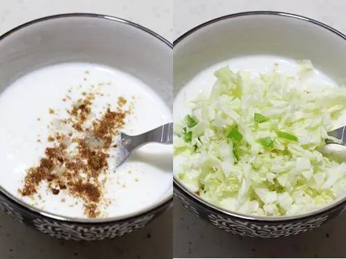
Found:
[[[179, 36], [177, 39], [173, 41], [173, 48], [176, 48], [181, 42], [183, 42], [184, 39], [187, 37], [190, 37], [194, 32], [197, 32], [198, 30], [210, 26], [214, 23], [217, 23], [219, 21], [224, 21], [227, 19], [233, 19], [236, 17], [245, 17], [245, 16], [254, 16], [254, 15], [268, 15], [268, 16], [277, 16], [277, 17], [282, 17], [284, 19], [298, 19], [302, 22], [307, 22], [307, 23], [313, 23], [316, 26], [320, 26], [321, 28], [324, 28], [326, 30], [329, 30], [330, 32], [333, 32], [335, 35], [340, 37], [341, 39], [346, 40], [346, 36], [342, 33], [339, 32], [338, 30], [332, 28], [331, 26], [328, 26], [325, 23], [322, 23], [320, 21], [316, 21], [315, 19], [311, 19], [308, 17], [304, 17], [301, 15], [295, 15], [289, 12], [279, 12], [279, 11], [251, 11], [251, 12], [237, 12], [231, 15], [225, 15], [222, 17], [217, 17], [215, 19], [211, 19], [209, 21], [206, 21], [204, 23], [201, 23], [200, 25], [188, 30], [187, 32], [183, 33], [183, 35]], [[194, 200], [194, 202], [197, 202], [199, 206], [201, 207], [207, 207], [208, 209], [215, 211], [217, 213], [221, 213], [227, 216], [231, 216], [234, 218], [239, 218], [242, 220], [248, 220], [251, 222], [267, 222], [267, 223], [281, 223], [281, 222], [291, 222], [295, 220], [304, 220], [307, 218], [311, 217], [316, 217], [320, 215], [325, 215], [329, 213], [330, 211], [333, 211], [337, 207], [340, 207], [341, 205], [345, 205], [346, 203], [346, 196], [344, 198], [338, 199], [335, 202], [329, 204], [326, 207], [322, 207], [316, 211], [311, 211], [309, 213], [304, 213], [301, 215], [290, 215], [290, 216], [275, 216], [275, 217], [265, 217], [265, 216], [257, 216], [257, 215], [246, 215], [243, 213], [237, 213], [235, 211], [228, 211], [226, 209], [222, 209], [221, 207], [217, 207], [210, 202], [207, 202], [206, 200], [203, 200], [199, 195], [196, 193], [192, 193], [191, 191], [188, 190], [188, 188], [181, 182], [181, 180], [176, 178], [176, 175], [173, 175], [173, 186], [174, 190], [178, 189], [181, 191], [184, 195], [187, 195], [188, 198]], [[346, 209], [346, 208], [345, 208]]]

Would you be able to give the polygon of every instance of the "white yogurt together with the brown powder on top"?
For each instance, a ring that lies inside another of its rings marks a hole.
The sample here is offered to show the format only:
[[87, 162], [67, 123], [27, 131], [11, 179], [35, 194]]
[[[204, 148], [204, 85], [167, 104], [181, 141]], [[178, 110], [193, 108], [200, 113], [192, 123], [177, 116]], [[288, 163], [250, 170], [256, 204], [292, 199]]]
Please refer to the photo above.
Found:
[[1, 164], [12, 175], [1, 186], [34, 207], [107, 218], [145, 208], [170, 189], [170, 147], [145, 146], [114, 168], [117, 134], [143, 133], [171, 117], [151, 88], [130, 75], [96, 64], [41, 68], [6, 89], [0, 113]]

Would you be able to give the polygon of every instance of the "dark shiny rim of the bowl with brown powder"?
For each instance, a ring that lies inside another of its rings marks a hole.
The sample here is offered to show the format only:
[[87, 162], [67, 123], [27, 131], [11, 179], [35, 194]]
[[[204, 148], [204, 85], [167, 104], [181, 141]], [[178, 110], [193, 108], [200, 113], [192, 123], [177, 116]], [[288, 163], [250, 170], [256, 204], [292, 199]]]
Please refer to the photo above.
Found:
[[[63, 19], [63, 18], [78, 18], [78, 17], [87, 17], [87, 18], [93, 18], [93, 19], [104, 19], [107, 21], [114, 21], [117, 23], [122, 23], [127, 26], [131, 26], [133, 28], [138, 29], [138, 32], [144, 32], [147, 33], [147, 35], [150, 35], [159, 41], [161, 41], [163, 44], [165, 44], [168, 48], [172, 50], [173, 44], [162, 37], [161, 35], [158, 35], [153, 30], [150, 30], [144, 26], [139, 25], [138, 23], [134, 23], [132, 21], [129, 21], [127, 19], [122, 19], [119, 17], [113, 17], [110, 15], [101, 15], [101, 14], [95, 14], [95, 13], [89, 13], [89, 12], [71, 12], [71, 13], [64, 13], [64, 14], [58, 14], [58, 15], [50, 15], [47, 17], [42, 17], [39, 19], [34, 19], [32, 21], [28, 21], [26, 23], [23, 23], [15, 28], [12, 28], [11, 30], [8, 30], [8, 32], [5, 32], [3, 35], [0, 36], [0, 41], [5, 39], [6, 37], [14, 34], [15, 32], [24, 29], [28, 26], [35, 25], [36, 23], [44, 23], [45, 21], [51, 21], [55, 19]], [[23, 200], [17, 198], [15, 195], [12, 195], [9, 191], [6, 191], [6, 189], [3, 188], [3, 186], [0, 185], [0, 194], [3, 194], [8, 200], [14, 202], [18, 207], [24, 210], [28, 210], [31, 213], [37, 213], [41, 215], [44, 218], [50, 218], [52, 220], [60, 220], [62, 222], [69, 222], [69, 223], [75, 223], [75, 224], [102, 224], [102, 223], [109, 223], [109, 222], [122, 222], [127, 220], [134, 220], [136, 218], [140, 218], [144, 215], [147, 215], [148, 213], [154, 213], [154, 211], [157, 211], [159, 209], [162, 209], [165, 206], [168, 206], [169, 204], [172, 204], [173, 202], [173, 193], [170, 193], [170, 195], [167, 195], [167, 197], [160, 202], [156, 202], [148, 207], [145, 207], [144, 209], [141, 209], [139, 211], [135, 211], [132, 213], [128, 213], [125, 215], [120, 215], [116, 217], [109, 217], [109, 218], [76, 218], [76, 217], [68, 217], [64, 215], [60, 215], [57, 213], [50, 213], [48, 211], [45, 211], [43, 209], [38, 209], [36, 207], [33, 207], [30, 204], [27, 204]]]

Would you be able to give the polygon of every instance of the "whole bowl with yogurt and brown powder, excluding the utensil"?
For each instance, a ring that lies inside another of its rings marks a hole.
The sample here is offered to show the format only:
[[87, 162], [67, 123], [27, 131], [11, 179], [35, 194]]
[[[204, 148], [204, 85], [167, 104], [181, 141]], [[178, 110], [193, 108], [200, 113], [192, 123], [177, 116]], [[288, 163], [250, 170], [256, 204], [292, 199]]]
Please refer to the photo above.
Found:
[[102, 15], [47, 17], [3, 35], [0, 207], [73, 240], [122, 236], [165, 211], [172, 146], [143, 146], [118, 168], [116, 154], [121, 132], [172, 121], [171, 47]]

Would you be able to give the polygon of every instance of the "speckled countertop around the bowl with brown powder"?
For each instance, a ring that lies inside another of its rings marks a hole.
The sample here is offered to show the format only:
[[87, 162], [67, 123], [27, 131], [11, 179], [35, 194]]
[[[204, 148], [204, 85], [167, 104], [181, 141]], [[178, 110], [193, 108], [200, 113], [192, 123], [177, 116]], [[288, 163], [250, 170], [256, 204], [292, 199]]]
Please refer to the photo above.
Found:
[[[129, 19], [172, 41], [172, 2], [161, 0], [1, 0], [0, 34], [47, 15], [94, 12]], [[172, 258], [172, 209], [149, 226], [104, 242], [67, 242], [18, 224], [0, 212], [1, 259]]]

